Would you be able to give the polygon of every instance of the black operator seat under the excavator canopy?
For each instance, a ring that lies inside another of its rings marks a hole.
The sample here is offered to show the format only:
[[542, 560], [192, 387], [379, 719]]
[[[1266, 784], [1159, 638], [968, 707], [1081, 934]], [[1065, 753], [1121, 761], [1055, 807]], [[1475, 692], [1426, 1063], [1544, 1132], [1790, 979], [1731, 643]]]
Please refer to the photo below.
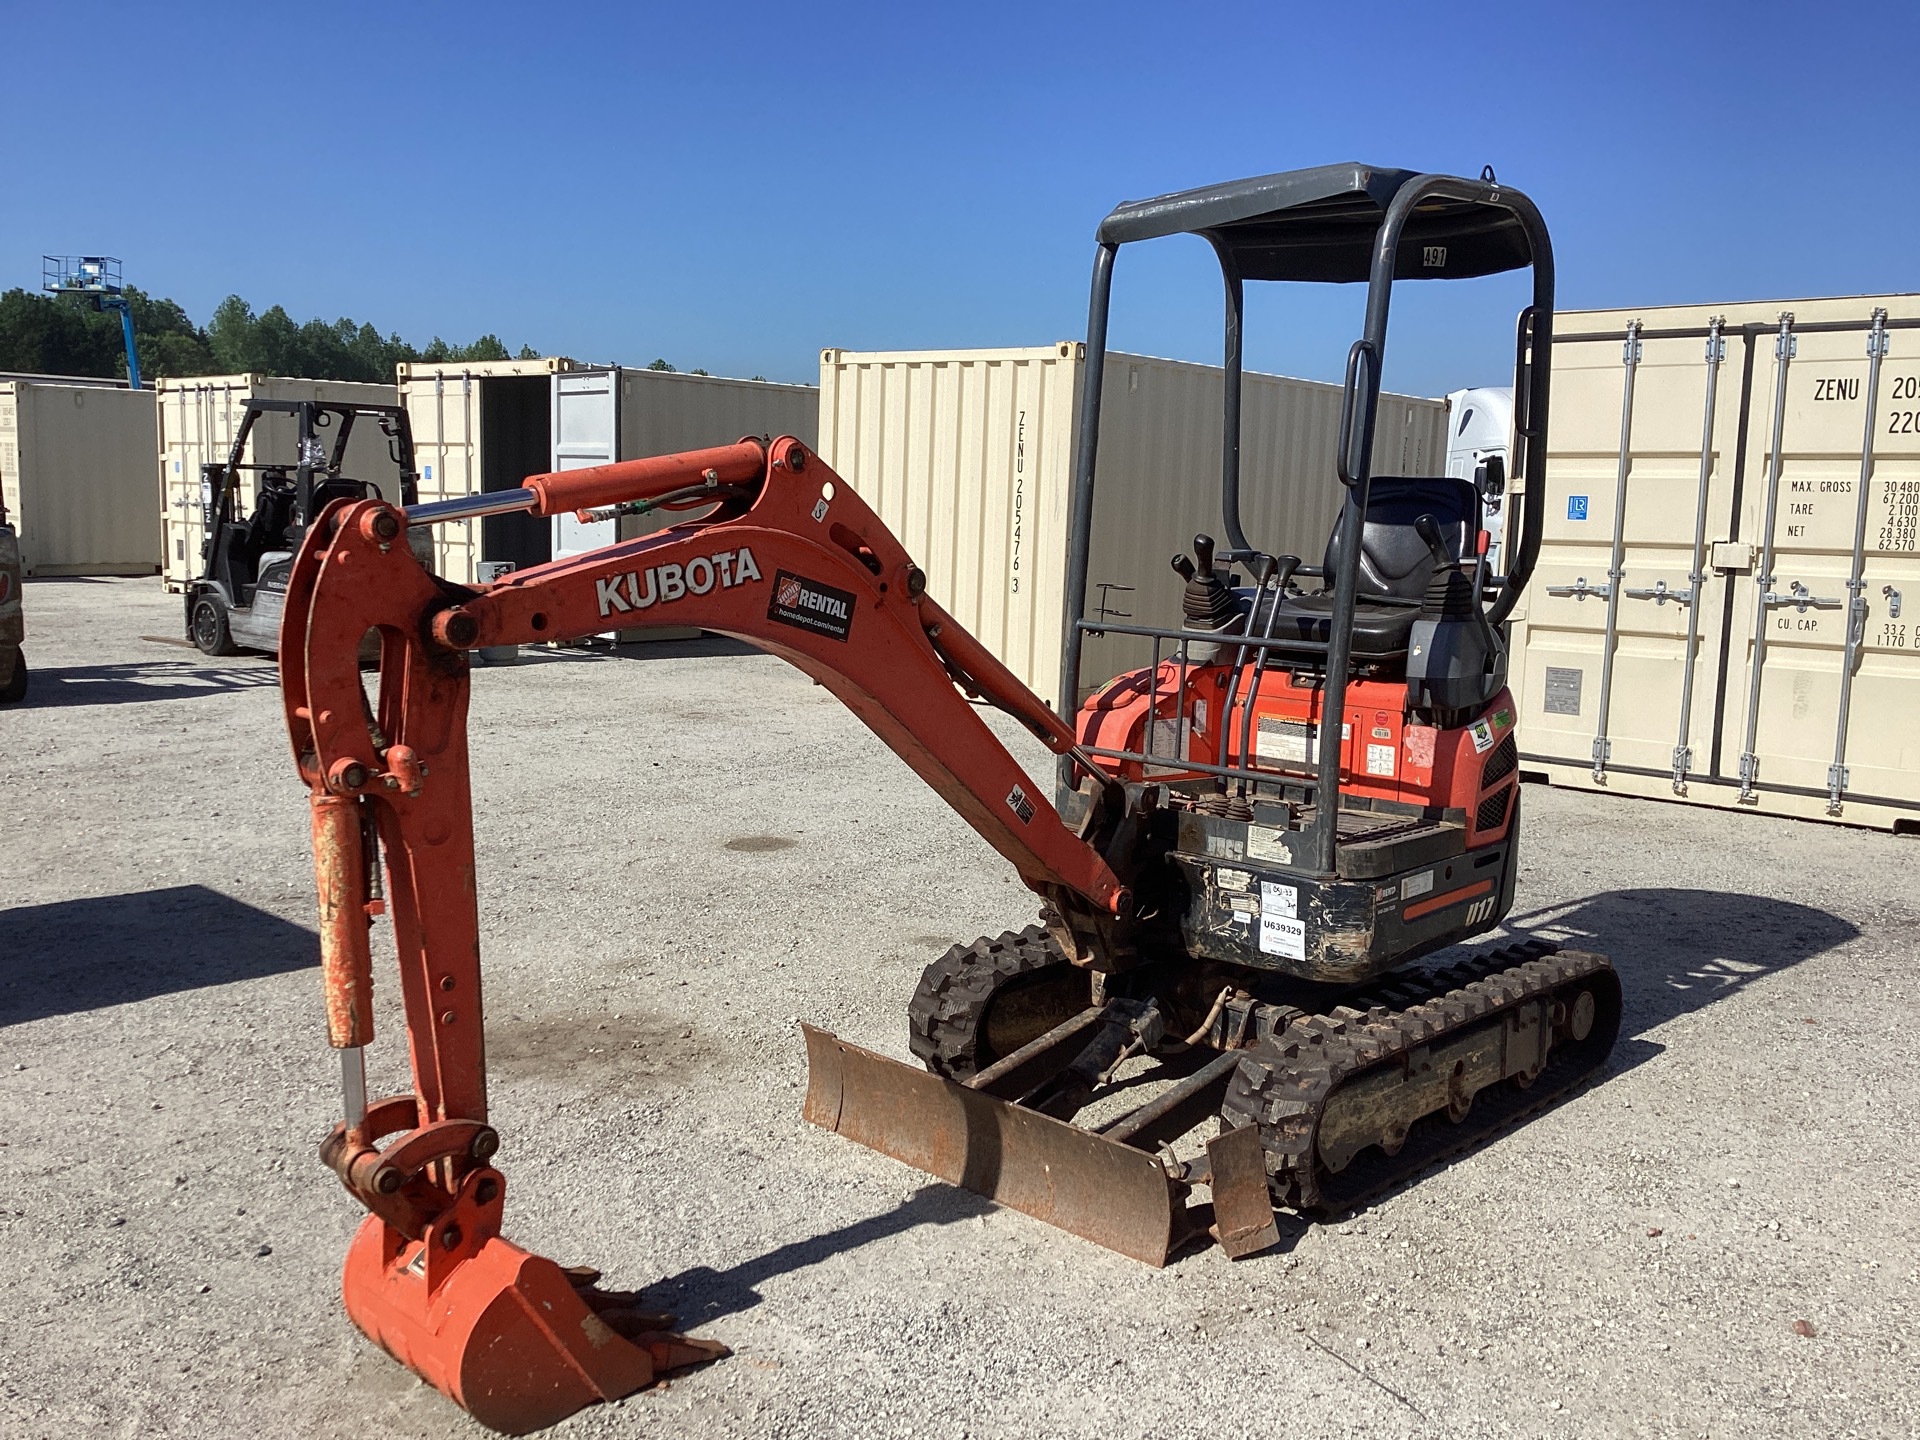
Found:
[[[1430, 526], [1421, 526], [1430, 520]], [[1427, 528], [1427, 536], [1421, 530]], [[1359, 534], [1359, 574], [1354, 595], [1354, 659], [1380, 666], [1405, 660], [1407, 637], [1421, 616], [1421, 599], [1434, 572], [1459, 564], [1473, 553], [1480, 532], [1480, 495], [1469, 480], [1453, 476], [1380, 474], [1367, 492], [1367, 518]], [[1332, 578], [1340, 566], [1340, 524], [1327, 538], [1327, 589], [1313, 595], [1286, 595], [1273, 622], [1277, 639], [1327, 643], [1332, 632]], [[1261, 607], [1248, 634], [1265, 630]], [[1288, 660], [1325, 662], [1319, 649], [1275, 655]]]

